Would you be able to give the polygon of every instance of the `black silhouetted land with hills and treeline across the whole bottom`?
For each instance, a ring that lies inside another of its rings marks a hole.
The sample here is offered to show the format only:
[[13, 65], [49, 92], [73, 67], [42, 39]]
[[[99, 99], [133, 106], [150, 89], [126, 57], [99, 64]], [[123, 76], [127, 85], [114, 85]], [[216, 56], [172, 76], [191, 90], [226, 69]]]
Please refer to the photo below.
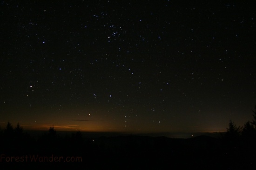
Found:
[[[227, 132], [220, 138], [198, 136], [190, 139], [167, 137], [117, 136], [86, 138], [81, 132], [58, 135], [54, 126], [34, 138], [17, 124], [10, 122], [0, 130], [0, 154], [7, 156], [40, 155], [82, 158], [73, 163], [4, 163], [26, 167], [83, 167], [101, 169], [255, 169], [256, 162], [256, 108], [253, 120], [240, 127], [230, 120]], [[4, 160], [4, 159], [3, 159]]]

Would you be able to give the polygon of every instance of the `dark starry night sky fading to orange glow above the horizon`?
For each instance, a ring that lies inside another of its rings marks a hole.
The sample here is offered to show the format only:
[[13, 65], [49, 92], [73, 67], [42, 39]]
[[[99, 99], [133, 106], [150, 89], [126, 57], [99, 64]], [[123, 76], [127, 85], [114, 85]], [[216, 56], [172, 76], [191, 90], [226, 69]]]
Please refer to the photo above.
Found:
[[0, 2], [0, 126], [222, 132], [256, 105], [253, 0]]

